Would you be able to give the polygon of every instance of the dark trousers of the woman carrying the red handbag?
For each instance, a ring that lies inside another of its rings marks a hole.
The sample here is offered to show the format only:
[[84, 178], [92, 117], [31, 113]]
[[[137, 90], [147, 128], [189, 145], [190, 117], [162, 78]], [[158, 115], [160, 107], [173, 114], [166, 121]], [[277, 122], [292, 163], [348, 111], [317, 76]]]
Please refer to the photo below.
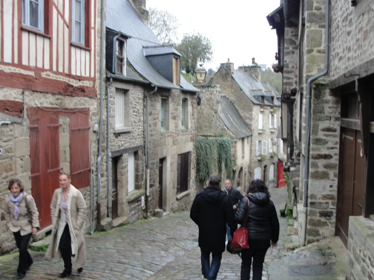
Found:
[[253, 259], [253, 280], [262, 279], [262, 268], [268, 248], [248, 249], [241, 253], [240, 280], [250, 280], [251, 263]]

